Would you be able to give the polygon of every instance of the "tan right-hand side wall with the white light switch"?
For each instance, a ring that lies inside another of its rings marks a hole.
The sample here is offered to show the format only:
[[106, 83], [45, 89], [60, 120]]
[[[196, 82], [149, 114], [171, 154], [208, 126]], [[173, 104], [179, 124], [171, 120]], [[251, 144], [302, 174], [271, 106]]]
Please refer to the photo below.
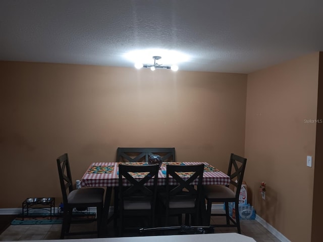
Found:
[[[257, 214], [293, 242], [310, 241], [318, 53], [248, 75], [245, 179]], [[309, 121], [311, 122], [311, 121]], [[259, 193], [267, 184], [266, 199]]]

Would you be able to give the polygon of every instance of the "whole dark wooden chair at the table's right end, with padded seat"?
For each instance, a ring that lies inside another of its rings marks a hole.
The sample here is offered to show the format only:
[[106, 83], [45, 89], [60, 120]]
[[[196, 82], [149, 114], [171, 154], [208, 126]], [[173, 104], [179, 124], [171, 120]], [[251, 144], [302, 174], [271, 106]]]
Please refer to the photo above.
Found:
[[[214, 227], [237, 227], [238, 233], [241, 233], [239, 218], [239, 194], [243, 181], [243, 174], [247, 159], [241, 156], [231, 154], [228, 168], [231, 186], [206, 185], [204, 186], [205, 199], [207, 201], [206, 214], [207, 221], [210, 222], [211, 216], [226, 216], [226, 224], [212, 224]], [[211, 213], [212, 203], [224, 203], [226, 213]], [[229, 214], [229, 203], [235, 203], [235, 219]], [[209, 225], [209, 224], [208, 224]]]

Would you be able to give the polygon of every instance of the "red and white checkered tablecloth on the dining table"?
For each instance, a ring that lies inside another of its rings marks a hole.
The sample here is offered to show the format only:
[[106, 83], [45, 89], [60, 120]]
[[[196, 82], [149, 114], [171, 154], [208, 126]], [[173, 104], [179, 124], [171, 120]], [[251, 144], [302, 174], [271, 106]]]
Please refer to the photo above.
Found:
[[[203, 163], [207, 169], [203, 172], [203, 185], [228, 185], [230, 177], [206, 162], [170, 162], [182, 165], [196, 165]], [[124, 164], [124, 163], [123, 163]], [[94, 162], [81, 179], [82, 187], [118, 187], [118, 162]], [[151, 180], [151, 185], [152, 185]], [[166, 183], [166, 165], [162, 165], [158, 172], [158, 185]], [[174, 185], [170, 182], [171, 185]]]

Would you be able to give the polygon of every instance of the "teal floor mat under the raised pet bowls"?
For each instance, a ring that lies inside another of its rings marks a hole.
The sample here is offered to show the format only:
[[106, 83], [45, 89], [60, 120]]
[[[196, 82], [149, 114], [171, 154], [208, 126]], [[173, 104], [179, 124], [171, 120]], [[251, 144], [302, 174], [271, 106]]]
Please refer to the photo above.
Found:
[[[75, 213], [73, 215], [75, 219], [93, 219], [95, 218], [95, 213]], [[12, 222], [12, 225], [31, 225], [31, 224], [62, 224], [63, 215], [62, 214], [53, 214], [50, 218], [49, 213], [29, 213], [28, 216], [19, 214]]]

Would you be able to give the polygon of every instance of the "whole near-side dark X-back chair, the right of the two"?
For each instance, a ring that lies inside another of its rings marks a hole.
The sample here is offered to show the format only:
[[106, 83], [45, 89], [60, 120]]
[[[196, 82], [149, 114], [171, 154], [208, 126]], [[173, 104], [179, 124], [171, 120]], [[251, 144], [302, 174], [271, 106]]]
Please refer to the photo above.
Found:
[[[185, 224], [197, 225], [202, 199], [202, 180], [204, 164], [167, 165], [166, 192], [159, 198], [165, 209], [165, 226], [172, 215], [185, 214]], [[194, 186], [193, 183], [197, 184]], [[193, 218], [193, 219], [192, 219]]]

